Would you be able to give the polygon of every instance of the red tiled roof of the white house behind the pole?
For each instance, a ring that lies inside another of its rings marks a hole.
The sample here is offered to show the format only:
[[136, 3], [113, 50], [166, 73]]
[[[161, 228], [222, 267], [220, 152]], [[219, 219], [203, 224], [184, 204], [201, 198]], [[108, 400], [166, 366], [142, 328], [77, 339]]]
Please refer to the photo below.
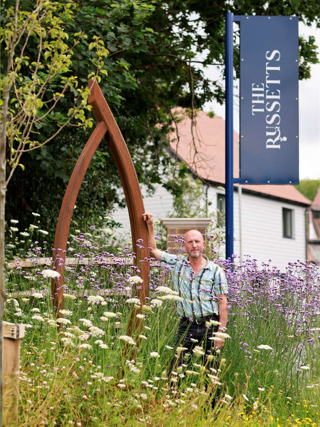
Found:
[[[176, 132], [172, 132], [171, 150], [177, 152], [178, 157], [200, 178], [225, 184], [225, 120], [218, 116], [211, 118], [205, 111], [197, 111], [193, 143], [191, 119], [182, 108], [176, 108], [173, 114], [180, 120], [177, 124], [179, 141]], [[234, 178], [238, 177], [239, 135], [234, 132]], [[293, 185], [242, 185], [242, 189], [306, 205], [311, 203]]]

